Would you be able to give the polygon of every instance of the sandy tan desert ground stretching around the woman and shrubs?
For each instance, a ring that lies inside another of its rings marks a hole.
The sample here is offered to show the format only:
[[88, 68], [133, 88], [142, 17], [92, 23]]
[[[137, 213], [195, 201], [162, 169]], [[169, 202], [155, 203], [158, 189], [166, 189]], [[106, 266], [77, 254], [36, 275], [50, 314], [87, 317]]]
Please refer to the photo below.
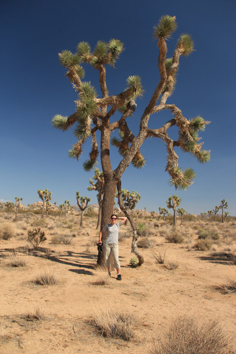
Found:
[[[145, 258], [140, 268], [129, 266], [134, 256], [132, 232], [123, 225], [122, 281], [117, 281], [115, 271], [108, 279], [94, 268], [96, 217], [85, 217], [83, 228], [80, 218], [72, 215], [42, 220], [40, 215], [22, 213], [15, 222], [14, 217], [14, 213], [0, 213], [0, 233], [10, 227], [12, 235], [0, 241], [1, 354], [153, 353], [153, 343], [164, 338], [181, 316], [191, 316], [199, 325], [216, 320], [231, 337], [227, 352], [236, 353], [236, 294], [226, 288], [236, 279], [236, 221], [195, 220], [181, 225], [178, 220], [175, 232], [184, 240], [175, 244], [166, 239], [174, 232], [168, 222], [145, 220], [139, 240], [145, 244], [148, 238], [148, 248], [139, 248]], [[27, 234], [36, 226], [47, 240], [33, 251]], [[210, 250], [194, 248], [200, 229], [219, 235]], [[155, 255], [164, 254], [164, 264], [159, 264]], [[16, 258], [24, 260], [25, 266], [13, 267]], [[173, 264], [177, 268], [168, 269]], [[42, 274], [57, 282], [36, 284]], [[103, 336], [94, 325], [95, 316], [104, 319], [112, 311], [134, 317], [131, 340]]]

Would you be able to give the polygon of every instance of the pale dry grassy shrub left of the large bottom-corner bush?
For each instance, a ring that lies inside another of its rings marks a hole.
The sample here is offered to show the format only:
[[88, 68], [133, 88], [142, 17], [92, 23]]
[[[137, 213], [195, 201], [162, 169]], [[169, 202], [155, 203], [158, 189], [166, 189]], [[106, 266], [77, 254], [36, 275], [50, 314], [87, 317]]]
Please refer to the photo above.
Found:
[[106, 310], [95, 313], [92, 316], [91, 324], [97, 327], [104, 337], [115, 337], [124, 340], [134, 338], [134, 325], [138, 319], [131, 311]]

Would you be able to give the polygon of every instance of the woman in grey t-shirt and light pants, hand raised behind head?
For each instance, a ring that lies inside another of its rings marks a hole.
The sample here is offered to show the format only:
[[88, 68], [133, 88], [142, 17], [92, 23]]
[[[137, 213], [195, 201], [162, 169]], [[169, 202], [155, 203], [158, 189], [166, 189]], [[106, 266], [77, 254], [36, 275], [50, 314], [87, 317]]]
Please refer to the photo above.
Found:
[[[121, 220], [116, 223], [116, 220]], [[112, 252], [114, 267], [117, 272], [117, 280], [122, 280], [121, 276], [121, 266], [119, 261], [119, 246], [118, 246], [118, 238], [119, 238], [119, 229], [121, 225], [123, 225], [127, 220], [127, 217], [117, 217], [115, 214], [112, 214], [110, 217], [110, 223], [105, 225], [103, 229], [99, 233], [98, 244], [101, 245], [101, 235], [103, 232], [107, 231], [107, 237], [105, 239], [104, 244], [104, 252], [105, 252], [105, 261], [108, 274], [110, 276], [110, 255]]]

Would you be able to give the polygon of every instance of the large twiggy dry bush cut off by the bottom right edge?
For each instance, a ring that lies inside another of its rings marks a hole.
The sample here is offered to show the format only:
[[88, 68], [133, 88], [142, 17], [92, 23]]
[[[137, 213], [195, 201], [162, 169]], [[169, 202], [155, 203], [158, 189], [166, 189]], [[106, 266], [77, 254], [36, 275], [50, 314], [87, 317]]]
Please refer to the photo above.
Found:
[[150, 354], [226, 354], [229, 338], [216, 321], [197, 324], [191, 317], [177, 318]]

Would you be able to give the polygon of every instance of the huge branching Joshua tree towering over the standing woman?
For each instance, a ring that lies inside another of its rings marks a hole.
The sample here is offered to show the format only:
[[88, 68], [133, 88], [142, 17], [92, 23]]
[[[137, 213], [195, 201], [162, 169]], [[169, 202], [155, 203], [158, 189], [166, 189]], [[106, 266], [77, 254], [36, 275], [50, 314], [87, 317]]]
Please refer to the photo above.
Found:
[[[98, 41], [95, 49], [91, 51], [87, 42], [80, 42], [77, 45], [76, 54], [72, 54], [68, 50], [59, 54], [60, 63], [67, 69], [66, 76], [77, 92], [78, 99], [76, 100], [76, 110], [73, 114], [70, 116], [57, 114], [53, 117], [52, 124], [54, 128], [62, 131], [68, 130], [74, 124], [76, 125], [74, 134], [78, 141], [69, 151], [69, 157], [78, 159], [82, 153], [82, 145], [87, 138], [92, 138], [89, 159], [83, 164], [86, 171], [91, 170], [97, 163], [98, 145], [96, 135], [100, 132], [99, 150], [104, 176], [101, 229], [109, 221], [113, 211], [116, 185], [121, 180], [129, 164], [132, 163], [137, 168], [145, 165], [145, 159], [141, 155], [140, 148], [147, 138], [160, 138], [166, 144], [166, 171], [170, 174], [170, 183], [175, 188], [186, 189], [189, 187], [193, 183], [195, 172], [192, 168], [181, 170], [174, 147], [179, 147], [182, 151], [191, 153], [201, 163], [208, 162], [210, 159], [209, 151], [201, 149], [202, 143], [199, 143], [200, 138], [198, 137], [198, 132], [203, 131], [205, 125], [209, 122], [204, 121], [200, 116], [187, 120], [175, 104], [166, 104], [167, 98], [171, 96], [174, 90], [180, 57], [188, 56], [194, 50], [190, 35], [182, 34], [177, 41], [173, 57], [166, 57], [166, 41], [176, 28], [176, 18], [171, 16], [163, 16], [158, 25], [154, 27], [153, 35], [158, 40], [157, 45], [159, 48], [158, 68], [160, 81], [141, 115], [140, 129], [137, 136], [131, 132], [126, 120], [136, 110], [136, 98], [141, 97], [144, 93], [140, 77], [129, 76], [127, 88], [116, 95], [109, 96], [106, 85], [105, 66], [111, 65], [114, 67], [116, 59], [124, 51], [123, 43], [115, 39], [111, 39], [108, 43]], [[88, 63], [98, 70], [101, 98], [98, 98], [97, 92], [90, 84], [90, 81], [82, 81], [84, 76], [84, 69], [80, 65], [82, 63]], [[121, 117], [117, 121], [111, 122], [111, 117], [118, 110], [121, 112]], [[173, 117], [162, 127], [150, 129], [148, 127], [150, 116], [162, 110], [169, 110]], [[167, 134], [167, 131], [173, 126], [176, 126], [179, 131], [177, 141], [171, 139], [169, 134]], [[110, 135], [116, 129], [119, 130], [120, 139], [114, 137], [110, 141]], [[110, 143], [119, 149], [122, 156], [120, 164], [114, 170], [111, 167]], [[104, 263], [103, 254], [99, 253], [97, 263]]]

